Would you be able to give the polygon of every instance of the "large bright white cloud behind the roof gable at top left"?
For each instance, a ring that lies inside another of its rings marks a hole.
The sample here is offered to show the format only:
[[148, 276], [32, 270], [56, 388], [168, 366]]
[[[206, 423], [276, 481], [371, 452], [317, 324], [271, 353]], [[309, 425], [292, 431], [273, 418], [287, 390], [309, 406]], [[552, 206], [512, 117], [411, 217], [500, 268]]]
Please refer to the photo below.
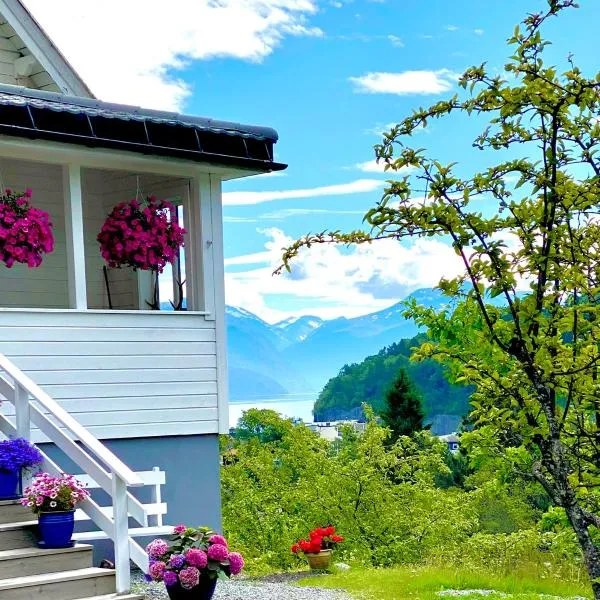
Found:
[[285, 36], [323, 33], [307, 22], [317, 10], [312, 0], [25, 4], [99, 98], [165, 110], [181, 110], [191, 93], [174, 74], [191, 60], [260, 62]]

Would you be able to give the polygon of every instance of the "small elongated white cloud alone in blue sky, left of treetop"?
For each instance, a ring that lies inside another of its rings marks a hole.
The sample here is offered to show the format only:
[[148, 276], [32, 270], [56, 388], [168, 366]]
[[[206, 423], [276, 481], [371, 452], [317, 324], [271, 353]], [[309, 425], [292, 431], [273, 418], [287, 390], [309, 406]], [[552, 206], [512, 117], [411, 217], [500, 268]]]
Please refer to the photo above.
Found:
[[441, 94], [452, 89], [458, 78], [448, 69], [438, 71], [373, 72], [350, 77], [355, 91], [366, 94]]

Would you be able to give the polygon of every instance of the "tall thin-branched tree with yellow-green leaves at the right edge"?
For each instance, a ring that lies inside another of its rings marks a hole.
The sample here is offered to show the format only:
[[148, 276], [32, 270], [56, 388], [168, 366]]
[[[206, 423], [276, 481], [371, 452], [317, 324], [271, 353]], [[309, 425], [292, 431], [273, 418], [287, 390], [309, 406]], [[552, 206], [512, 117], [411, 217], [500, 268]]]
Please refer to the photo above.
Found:
[[[509, 39], [504, 76], [468, 69], [460, 95], [415, 111], [376, 146], [388, 171], [412, 167], [424, 189], [389, 182], [366, 215], [371, 231], [309, 235], [283, 262], [314, 243], [451, 242], [464, 272], [440, 288], [457, 301], [439, 314], [410, 306], [432, 337], [418, 356], [476, 385], [474, 417], [493, 451], [531, 456], [528, 475], [564, 509], [600, 599], [600, 74], [586, 77], [572, 57], [562, 72], [545, 64], [542, 26], [576, 6], [547, 4]], [[409, 145], [417, 128], [454, 113], [489, 121], [474, 145], [500, 151], [496, 164], [465, 177]]]

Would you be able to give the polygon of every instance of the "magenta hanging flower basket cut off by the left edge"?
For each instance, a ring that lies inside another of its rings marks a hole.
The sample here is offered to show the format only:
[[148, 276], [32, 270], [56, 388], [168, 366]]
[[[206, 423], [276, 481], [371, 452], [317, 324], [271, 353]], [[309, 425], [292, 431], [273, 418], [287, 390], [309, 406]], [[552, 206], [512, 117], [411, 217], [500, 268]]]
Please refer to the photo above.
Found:
[[5, 189], [0, 196], [0, 261], [39, 267], [44, 254], [54, 250], [52, 223], [47, 212], [31, 206], [31, 190], [17, 194]]

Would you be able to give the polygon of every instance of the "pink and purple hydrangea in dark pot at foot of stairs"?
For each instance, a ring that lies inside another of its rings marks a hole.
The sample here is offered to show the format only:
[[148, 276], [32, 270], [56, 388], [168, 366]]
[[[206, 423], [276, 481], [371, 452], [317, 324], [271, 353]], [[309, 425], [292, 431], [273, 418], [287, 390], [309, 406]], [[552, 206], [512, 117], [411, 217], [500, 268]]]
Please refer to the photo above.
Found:
[[237, 575], [244, 567], [239, 552], [208, 527], [178, 525], [170, 544], [153, 540], [146, 546], [147, 578], [162, 581], [171, 600], [210, 600], [218, 579]]

